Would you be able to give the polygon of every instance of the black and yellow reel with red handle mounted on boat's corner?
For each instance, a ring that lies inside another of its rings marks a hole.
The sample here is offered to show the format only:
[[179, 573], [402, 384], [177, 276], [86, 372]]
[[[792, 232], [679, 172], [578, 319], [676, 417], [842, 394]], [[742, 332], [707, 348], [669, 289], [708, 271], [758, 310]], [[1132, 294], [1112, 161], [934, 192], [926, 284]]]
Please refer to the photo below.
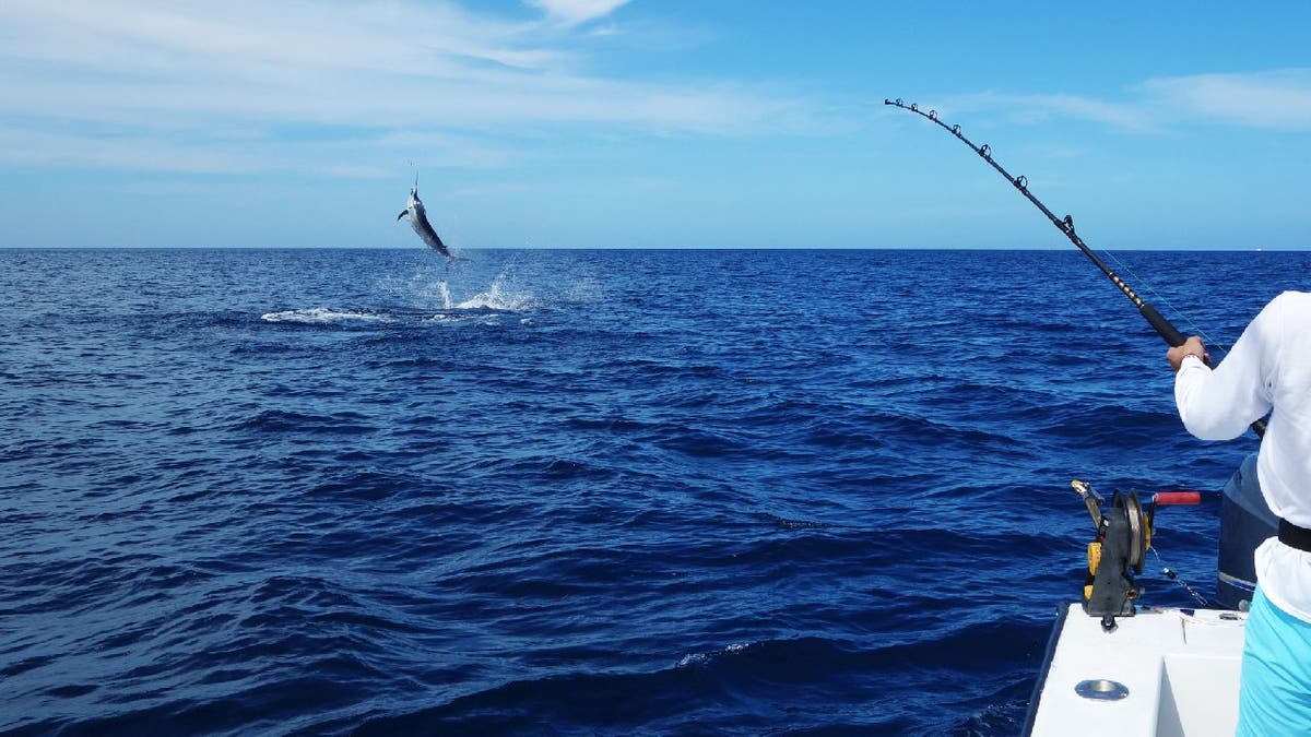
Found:
[[1151, 502], [1143, 509], [1138, 492], [1116, 492], [1110, 505], [1092, 487], [1074, 480], [1070, 483], [1079, 492], [1097, 539], [1088, 543], [1088, 574], [1083, 584], [1083, 611], [1088, 616], [1100, 616], [1101, 628], [1116, 627], [1117, 616], [1133, 616], [1134, 602], [1142, 595], [1142, 589], [1134, 582], [1134, 574], [1143, 572], [1143, 559], [1151, 548], [1152, 519], [1158, 506], [1176, 504], [1198, 504], [1197, 492], [1162, 492], [1152, 494]]

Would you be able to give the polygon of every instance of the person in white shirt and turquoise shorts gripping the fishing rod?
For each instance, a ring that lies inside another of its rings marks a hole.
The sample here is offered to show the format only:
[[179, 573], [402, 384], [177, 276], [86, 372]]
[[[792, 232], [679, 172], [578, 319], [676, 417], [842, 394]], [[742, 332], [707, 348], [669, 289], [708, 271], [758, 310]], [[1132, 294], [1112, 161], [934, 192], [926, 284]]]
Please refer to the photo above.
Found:
[[1200, 439], [1236, 438], [1270, 413], [1256, 475], [1280, 534], [1256, 548], [1238, 734], [1311, 734], [1311, 292], [1272, 299], [1214, 370], [1197, 336], [1165, 358]]

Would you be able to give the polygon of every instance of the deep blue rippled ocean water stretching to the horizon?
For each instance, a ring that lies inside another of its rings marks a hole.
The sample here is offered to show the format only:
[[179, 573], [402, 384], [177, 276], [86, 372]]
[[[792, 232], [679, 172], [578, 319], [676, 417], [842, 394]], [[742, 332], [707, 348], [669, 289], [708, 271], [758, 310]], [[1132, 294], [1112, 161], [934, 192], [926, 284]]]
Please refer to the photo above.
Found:
[[[1070, 480], [1255, 450], [1072, 249], [469, 256], [0, 250], [0, 730], [1012, 734]], [[1118, 257], [1222, 341], [1311, 275]]]

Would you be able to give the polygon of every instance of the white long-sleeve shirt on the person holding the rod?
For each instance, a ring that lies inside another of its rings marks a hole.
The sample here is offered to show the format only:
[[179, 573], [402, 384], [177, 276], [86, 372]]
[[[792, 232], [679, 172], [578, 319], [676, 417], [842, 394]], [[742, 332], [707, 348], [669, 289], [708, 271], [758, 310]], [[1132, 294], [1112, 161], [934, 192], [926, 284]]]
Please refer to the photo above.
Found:
[[[1276, 515], [1311, 527], [1311, 294], [1272, 299], [1214, 371], [1185, 358], [1175, 403], [1203, 441], [1236, 438], [1273, 410], [1256, 477]], [[1270, 538], [1256, 549], [1256, 578], [1270, 603], [1311, 622], [1311, 553]]]

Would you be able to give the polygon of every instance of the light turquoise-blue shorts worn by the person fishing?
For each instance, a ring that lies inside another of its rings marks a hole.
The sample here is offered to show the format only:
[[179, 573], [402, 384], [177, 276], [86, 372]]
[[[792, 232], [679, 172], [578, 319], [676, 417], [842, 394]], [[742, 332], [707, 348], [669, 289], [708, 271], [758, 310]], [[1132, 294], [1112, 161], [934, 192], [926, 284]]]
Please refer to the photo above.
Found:
[[1311, 734], [1311, 623], [1252, 597], [1238, 698], [1239, 737]]

